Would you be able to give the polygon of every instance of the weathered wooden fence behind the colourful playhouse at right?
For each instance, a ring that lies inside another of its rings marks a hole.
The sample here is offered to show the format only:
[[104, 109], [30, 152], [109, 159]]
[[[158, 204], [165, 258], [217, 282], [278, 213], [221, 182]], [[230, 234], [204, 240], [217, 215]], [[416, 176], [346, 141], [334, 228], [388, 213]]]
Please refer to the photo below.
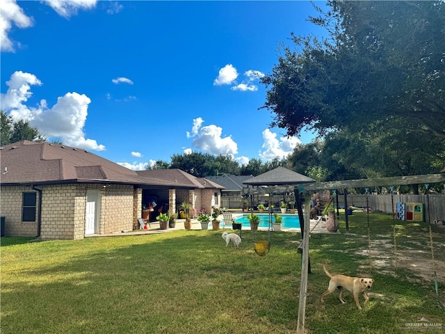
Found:
[[[368, 205], [373, 210], [386, 212], [391, 214], [396, 212], [396, 202], [418, 202], [423, 203], [425, 207], [425, 221], [432, 223], [436, 219], [445, 221], [445, 194], [434, 193], [427, 195], [396, 195], [391, 198], [391, 194], [381, 195], [348, 195], [348, 205], [354, 207], [366, 207], [366, 200]], [[394, 210], [392, 207], [394, 203]], [[339, 206], [344, 206], [344, 197], [339, 195]]]

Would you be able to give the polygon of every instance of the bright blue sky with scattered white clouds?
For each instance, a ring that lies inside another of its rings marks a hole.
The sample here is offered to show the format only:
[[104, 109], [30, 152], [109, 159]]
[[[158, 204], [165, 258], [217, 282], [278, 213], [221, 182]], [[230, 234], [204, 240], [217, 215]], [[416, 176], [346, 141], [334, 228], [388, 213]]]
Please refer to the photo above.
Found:
[[[324, 2], [317, 2], [318, 6]], [[2, 1], [1, 109], [131, 169], [172, 154], [285, 157], [259, 78], [309, 1]]]

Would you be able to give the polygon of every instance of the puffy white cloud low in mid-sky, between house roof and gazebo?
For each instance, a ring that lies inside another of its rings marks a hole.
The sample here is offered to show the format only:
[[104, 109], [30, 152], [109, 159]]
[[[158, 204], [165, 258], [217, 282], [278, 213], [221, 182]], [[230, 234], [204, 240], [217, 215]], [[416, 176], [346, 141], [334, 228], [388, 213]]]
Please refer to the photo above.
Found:
[[196, 118], [193, 120], [192, 134], [187, 133], [188, 138], [193, 138], [192, 145], [210, 154], [233, 155], [238, 152], [238, 145], [231, 136], [222, 137], [223, 129], [216, 125], [202, 127], [204, 120]]

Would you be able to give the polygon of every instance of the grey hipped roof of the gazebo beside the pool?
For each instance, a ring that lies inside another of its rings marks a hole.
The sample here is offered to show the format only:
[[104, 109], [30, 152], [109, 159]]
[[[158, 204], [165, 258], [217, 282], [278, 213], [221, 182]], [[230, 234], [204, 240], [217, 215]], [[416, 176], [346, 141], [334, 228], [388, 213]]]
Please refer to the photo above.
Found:
[[293, 170], [277, 167], [266, 173], [245, 180], [243, 184], [252, 186], [275, 186], [282, 184], [301, 184], [315, 182], [314, 179], [294, 172]]

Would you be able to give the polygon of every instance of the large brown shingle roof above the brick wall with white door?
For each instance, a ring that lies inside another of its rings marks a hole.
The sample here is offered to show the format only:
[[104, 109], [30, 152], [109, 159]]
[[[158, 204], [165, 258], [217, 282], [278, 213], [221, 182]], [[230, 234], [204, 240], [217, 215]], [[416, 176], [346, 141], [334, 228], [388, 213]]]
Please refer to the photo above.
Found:
[[[0, 157], [0, 183], [3, 185], [110, 182], [178, 188], [191, 186], [190, 182], [181, 184], [174, 182], [175, 179], [139, 175], [135, 170], [87, 150], [53, 143], [21, 141], [5, 145], [0, 150]], [[197, 182], [196, 187], [199, 185]]]

